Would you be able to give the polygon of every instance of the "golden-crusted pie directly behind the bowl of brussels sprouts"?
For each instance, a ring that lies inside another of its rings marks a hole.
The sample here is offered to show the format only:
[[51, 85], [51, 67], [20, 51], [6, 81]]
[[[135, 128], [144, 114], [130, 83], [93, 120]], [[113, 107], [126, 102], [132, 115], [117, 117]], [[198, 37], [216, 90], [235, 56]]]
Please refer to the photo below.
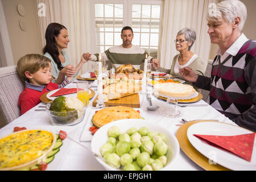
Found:
[[97, 111], [92, 118], [92, 122], [96, 127], [101, 127], [109, 122], [119, 119], [140, 119], [141, 115], [138, 111], [126, 106], [106, 107]]

